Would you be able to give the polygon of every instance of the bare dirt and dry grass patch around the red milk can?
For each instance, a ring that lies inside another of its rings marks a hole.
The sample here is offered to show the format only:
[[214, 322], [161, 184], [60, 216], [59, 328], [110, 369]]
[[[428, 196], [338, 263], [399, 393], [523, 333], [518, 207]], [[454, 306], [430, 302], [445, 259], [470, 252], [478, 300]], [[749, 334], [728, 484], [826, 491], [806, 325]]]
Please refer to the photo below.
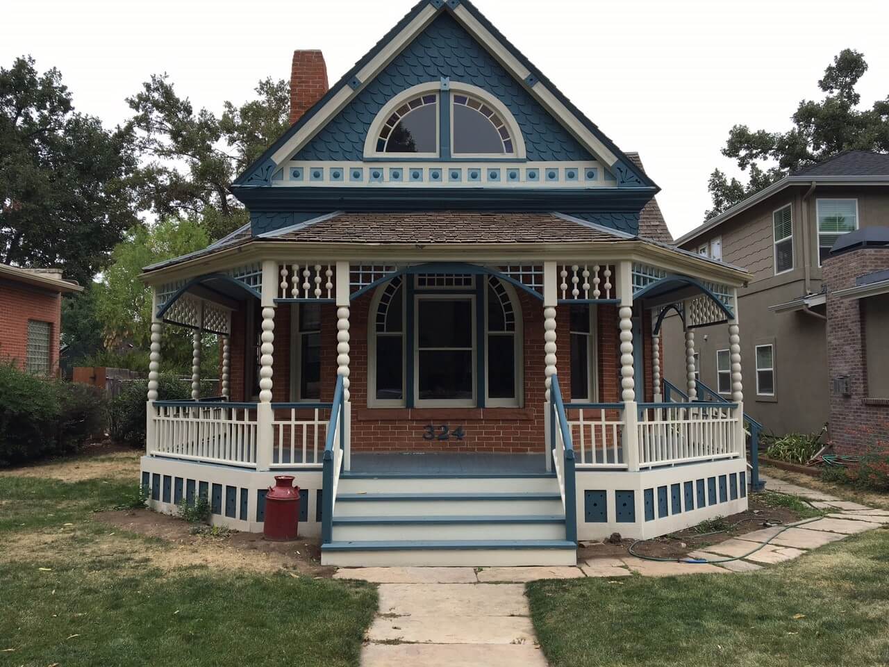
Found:
[[321, 566], [321, 548], [315, 540], [268, 542], [262, 534], [236, 531], [221, 536], [194, 534], [194, 524], [150, 510], [107, 511], [93, 517], [107, 526], [169, 542], [172, 549], [148, 554], [151, 564], [164, 570], [206, 565], [259, 572], [284, 568], [301, 575], [331, 576], [336, 569]]

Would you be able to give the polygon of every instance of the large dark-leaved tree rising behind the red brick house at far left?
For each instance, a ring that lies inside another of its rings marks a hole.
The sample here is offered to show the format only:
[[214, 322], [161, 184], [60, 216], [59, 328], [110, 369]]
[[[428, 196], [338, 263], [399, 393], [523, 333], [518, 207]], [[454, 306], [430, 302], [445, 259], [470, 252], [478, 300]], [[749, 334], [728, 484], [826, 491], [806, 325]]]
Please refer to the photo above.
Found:
[[0, 256], [54, 266], [82, 284], [138, 222], [132, 133], [74, 110], [58, 69], [0, 68]]

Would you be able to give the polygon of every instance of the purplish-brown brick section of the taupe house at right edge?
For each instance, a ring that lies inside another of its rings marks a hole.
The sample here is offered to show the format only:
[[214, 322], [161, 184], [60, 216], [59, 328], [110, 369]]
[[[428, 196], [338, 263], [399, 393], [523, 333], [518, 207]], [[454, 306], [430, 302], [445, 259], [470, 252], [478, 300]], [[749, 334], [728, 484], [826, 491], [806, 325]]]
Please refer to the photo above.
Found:
[[[829, 257], [823, 264], [828, 285], [828, 366], [830, 440], [837, 451], [862, 453], [882, 443], [889, 446], [889, 406], [869, 405], [864, 311], [857, 299], [840, 299], [837, 290], [855, 285], [855, 278], [889, 269], [889, 249], [861, 248]], [[872, 343], [873, 345], [873, 343]], [[851, 396], [833, 388], [833, 380], [848, 375]]]

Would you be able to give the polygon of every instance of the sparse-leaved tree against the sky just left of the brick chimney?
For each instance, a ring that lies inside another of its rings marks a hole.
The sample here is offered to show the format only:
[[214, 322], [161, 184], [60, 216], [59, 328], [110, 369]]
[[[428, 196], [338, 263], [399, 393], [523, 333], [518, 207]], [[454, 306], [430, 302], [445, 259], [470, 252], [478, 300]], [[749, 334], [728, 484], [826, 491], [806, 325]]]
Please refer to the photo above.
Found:
[[130, 125], [150, 160], [140, 173], [145, 209], [191, 216], [211, 238], [247, 221], [228, 185], [284, 132], [290, 108], [286, 81], [267, 78], [255, 90], [258, 100], [240, 107], [227, 101], [219, 118], [205, 108], [196, 112], [165, 74], [151, 76], [127, 99], [135, 111]]

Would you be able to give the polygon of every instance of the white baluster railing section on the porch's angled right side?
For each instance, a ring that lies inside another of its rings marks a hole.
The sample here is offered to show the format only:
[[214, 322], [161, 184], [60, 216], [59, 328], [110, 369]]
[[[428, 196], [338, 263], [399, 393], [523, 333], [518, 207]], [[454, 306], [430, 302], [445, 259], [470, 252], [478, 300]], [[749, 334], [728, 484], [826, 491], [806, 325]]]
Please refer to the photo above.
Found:
[[741, 456], [737, 405], [647, 403], [639, 405], [639, 467]]

